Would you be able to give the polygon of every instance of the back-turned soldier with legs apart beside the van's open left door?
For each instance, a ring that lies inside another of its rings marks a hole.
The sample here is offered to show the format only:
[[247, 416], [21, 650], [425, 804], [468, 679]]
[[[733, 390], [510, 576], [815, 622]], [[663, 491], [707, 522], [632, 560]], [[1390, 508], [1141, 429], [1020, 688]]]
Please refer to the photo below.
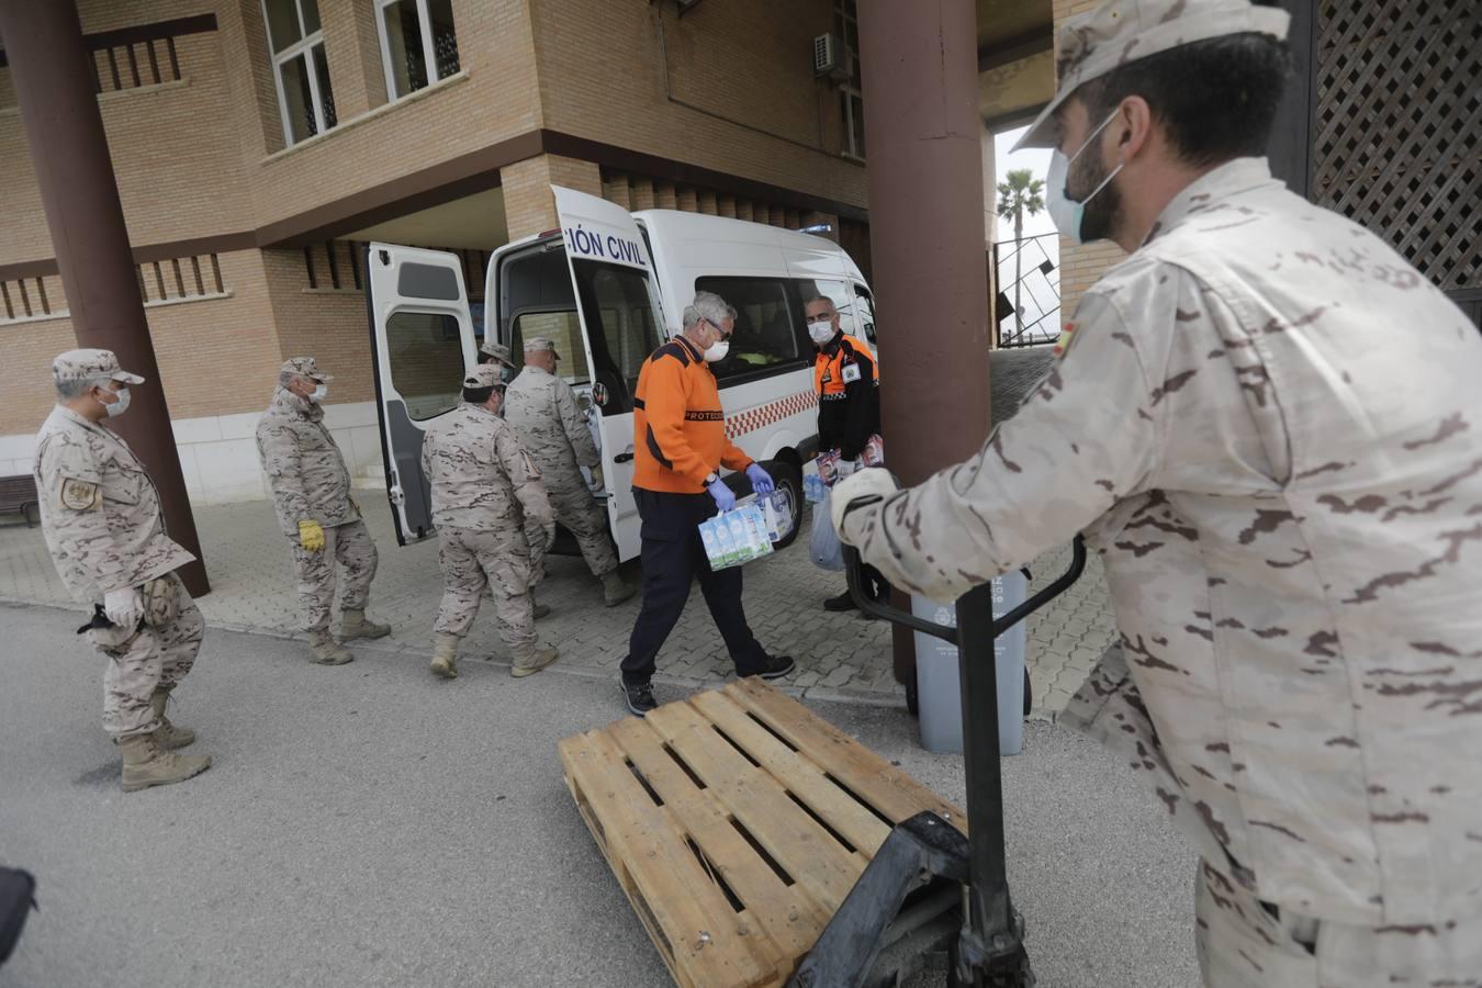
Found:
[[[499, 367], [474, 367], [464, 379], [462, 404], [433, 422], [422, 440], [422, 474], [431, 484], [443, 570], [443, 601], [433, 625], [433, 672], [458, 675], [458, 643], [492, 590], [499, 637], [516, 677], [556, 661], [541, 647], [531, 600], [532, 555], [556, 535], [556, 520], [539, 471], [499, 418]], [[538, 544], [536, 544], [538, 542]]]

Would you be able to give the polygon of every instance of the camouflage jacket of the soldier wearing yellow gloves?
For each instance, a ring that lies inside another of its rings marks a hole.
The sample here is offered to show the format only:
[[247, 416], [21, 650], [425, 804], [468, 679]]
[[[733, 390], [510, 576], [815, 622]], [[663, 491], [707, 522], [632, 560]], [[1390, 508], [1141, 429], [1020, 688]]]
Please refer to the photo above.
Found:
[[273, 489], [283, 535], [298, 536], [301, 520], [330, 529], [360, 520], [350, 499], [350, 471], [335, 437], [325, 428], [325, 409], [288, 388], [273, 393], [258, 421], [258, 459]]

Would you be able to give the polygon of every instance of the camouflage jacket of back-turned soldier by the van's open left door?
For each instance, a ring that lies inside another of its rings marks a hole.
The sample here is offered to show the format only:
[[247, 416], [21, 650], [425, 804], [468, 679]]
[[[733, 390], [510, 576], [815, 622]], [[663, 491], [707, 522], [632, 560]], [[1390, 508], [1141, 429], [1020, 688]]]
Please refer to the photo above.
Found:
[[554, 517], [514, 428], [482, 406], [465, 401], [433, 422], [422, 438], [422, 473], [436, 526], [525, 530], [526, 518], [548, 524]]

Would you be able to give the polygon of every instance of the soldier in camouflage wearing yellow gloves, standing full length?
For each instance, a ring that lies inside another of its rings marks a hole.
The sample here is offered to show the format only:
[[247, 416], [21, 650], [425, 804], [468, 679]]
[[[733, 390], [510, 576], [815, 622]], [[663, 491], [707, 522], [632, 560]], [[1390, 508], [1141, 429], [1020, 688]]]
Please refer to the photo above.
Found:
[[298, 570], [298, 601], [313, 661], [344, 665], [354, 656], [329, 634], [336, 561], [344, 567], [339, 638], [381, 638], [391, 628], [366, 618], [376, 551], [360, 507], [350, 496], [345, 459], [325, 428], [320, 401], [330, 379], [313, 357], [283, 363], [273, 401], [258, 421], [258, 458]]

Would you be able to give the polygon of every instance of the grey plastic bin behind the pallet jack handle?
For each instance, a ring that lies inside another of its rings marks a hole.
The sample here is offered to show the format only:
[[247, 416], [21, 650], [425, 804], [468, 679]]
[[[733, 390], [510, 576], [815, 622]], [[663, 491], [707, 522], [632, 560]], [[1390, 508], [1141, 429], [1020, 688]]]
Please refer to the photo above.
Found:
[[[1018, 570], [993, 581], [993, 616], [1024, 603], [1029, 581]], [[911, 597], [911, 613], [934, 624], [957, 625], [956, 607]], [[916, 695], [920, 701], [922, 745], [928, 751], [962, 752], [962, 678], [957, 649], [923, 631], [916, 634]], [[1015, 755], [1024, 748], [1024, 622], [993, 644], [999, 677], [999, 750]]]

